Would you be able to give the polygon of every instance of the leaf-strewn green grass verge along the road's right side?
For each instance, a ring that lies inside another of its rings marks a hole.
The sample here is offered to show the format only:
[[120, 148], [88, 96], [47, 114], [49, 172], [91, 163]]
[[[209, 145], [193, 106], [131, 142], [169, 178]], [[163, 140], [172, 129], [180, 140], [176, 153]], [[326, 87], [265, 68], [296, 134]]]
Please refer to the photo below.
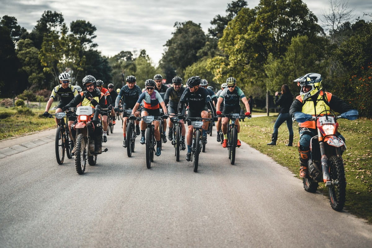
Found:
[[[298, 125], [293, 124], [294, 146], [288, 147], [288, 129], [285, 123], [279, 128], [276, 146], [268, 146], [277, 116], [256, 117], [241, 122], [240, 138], [260, 152], [270, 156], [280, 165], [288, 167], [298, 177], [299, 159], [296, 146], [299, 135]], [[346, 139], [347, 150], [343, 154], [346, 174], [345, 209], [372, 223], [372, 120], [360, 118], [355, 121], [338, 120], [339, 132]], [[299, 177], [298, 177], [299, 178]], [[299, 184], [302, 181], [298, 180]], [[318, 188], [328, 195], [323, 184]], [[310, 194], [310, 193], [309, 193]]]

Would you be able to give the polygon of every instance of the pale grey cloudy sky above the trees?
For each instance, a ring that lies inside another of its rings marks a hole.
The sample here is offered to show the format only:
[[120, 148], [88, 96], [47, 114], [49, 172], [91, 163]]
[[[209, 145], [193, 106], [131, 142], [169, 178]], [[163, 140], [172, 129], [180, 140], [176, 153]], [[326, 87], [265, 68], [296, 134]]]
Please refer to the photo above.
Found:
[[[232, 0], [231, 0], [232, 1]], [[62, 13], [65, 22], [83, 19], [96, 26], [97, 49], [112, 56], [120, 51], [145, 49], [154, 64], [172, 37], [175, 22], [192, 20], [201, 23], [204, 32], [216, 16], [225, 16], [228, 0], [0, 0], [0, 17], [15, 16], [18, 24], [29, 32], [45, 10]], [[256, 7], [259, 0], [246, 0]], [[302, 0], [319, 17], [329, 9], [328, 0]], [[371, 0], [349, 0], [353, 14], [365, 20], [363, 13], [372, 14]], [[322, 12], [323, 11], [323, 12]]]

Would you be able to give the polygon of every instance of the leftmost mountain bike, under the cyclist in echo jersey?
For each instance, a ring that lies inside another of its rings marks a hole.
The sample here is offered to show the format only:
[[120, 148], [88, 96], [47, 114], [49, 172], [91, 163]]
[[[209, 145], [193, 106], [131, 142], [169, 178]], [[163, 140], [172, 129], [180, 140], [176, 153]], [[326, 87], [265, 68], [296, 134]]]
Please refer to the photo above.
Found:
[[[59, 112], [56, 114], [49, 114], [47, 118], [55, 118], [60, 120], [58, 123], [57, 130], [55, 132], [55, 158], [57, 159], [57, 163], [61, 165], [65, 158], [65, 151], [67, 158], [71, 159], [72, 154], [71, 151], [74, 148], [74, 142], [70, 138], [70, 128], [68, 128], [68, 117], [75, 115], [74, 113], [67, 114], [68, 111]], [[66, 121], [64, 120], [66, 117]]]

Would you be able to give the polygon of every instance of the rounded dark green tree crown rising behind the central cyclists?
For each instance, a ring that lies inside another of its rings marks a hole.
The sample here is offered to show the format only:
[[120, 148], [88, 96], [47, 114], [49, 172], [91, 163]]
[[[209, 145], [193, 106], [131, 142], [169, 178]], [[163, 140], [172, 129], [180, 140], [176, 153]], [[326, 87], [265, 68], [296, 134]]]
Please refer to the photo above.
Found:
[[[174, 27], [176, 31], [172, 33], [173, 37], [165, 45], [167, 50], [163, 54], [160, 64], [163, 70], [166, 68], [165, 65], [169, 64], [175, 69], [172, 74], [183, 77], [185, 68], [199, 59], [197, 53], [205, 45], [206, 36], [200, 23], [176, 22]], [[170, 76], [166, 75], [167, 78], [171, 78]]]

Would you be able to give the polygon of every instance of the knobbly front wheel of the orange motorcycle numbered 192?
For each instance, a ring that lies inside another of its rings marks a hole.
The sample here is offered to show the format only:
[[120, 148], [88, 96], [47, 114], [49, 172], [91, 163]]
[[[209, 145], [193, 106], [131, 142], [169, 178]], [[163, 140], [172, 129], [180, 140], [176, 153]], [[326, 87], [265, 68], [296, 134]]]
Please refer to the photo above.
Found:
[[346, 198], [344, 162], [338, 156], [331, 156], [328, 162], [332, 182], [331, 186], [328, 187], [329, 201], [332, 209], [341, 211], [344, 208]]

